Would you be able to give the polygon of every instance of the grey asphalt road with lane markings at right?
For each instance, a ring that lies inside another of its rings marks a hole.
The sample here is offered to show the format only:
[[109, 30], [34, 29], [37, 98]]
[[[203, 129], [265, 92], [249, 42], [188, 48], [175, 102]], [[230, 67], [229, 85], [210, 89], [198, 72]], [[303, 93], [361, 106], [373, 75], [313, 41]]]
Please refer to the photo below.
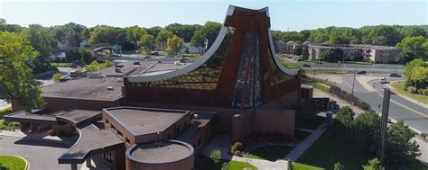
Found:
[[[377, 75], [377, 76], [386, 76], [386, 75]], [[339, 85], [340, 88], [345, 89], [350, 92], [352, 87], [352, 75], [343, 76], [344, 85]], [[403, 78], [387, 77], [386, 80], [394, 81], [400, 80]], [[355, 82], [354, 94], [361, 100], [370, 104], [371, 108], [375, 111], [381, 112], [383, 93], [381, 92], [384, 85], [379, 84], [378, 80], [373, 80], [368, 82], [369, 85], [375, 84], [375, 89], [377, 91], [368, 91], [362, 85], [359, 85], [358, 81]], [[380, 106], [380, 107], [379, 107]], [[390, 104], [389, 104], [389, 117], [395, 119], [396, 121], [405, 121], [405, 124], [414, 128], [415, 130], [420, 130], [422, 132], [428, 132], [428, 109], [420, 106], [418, 104], [412, 103], [405, 100], [396, 94], [391, 94]]]

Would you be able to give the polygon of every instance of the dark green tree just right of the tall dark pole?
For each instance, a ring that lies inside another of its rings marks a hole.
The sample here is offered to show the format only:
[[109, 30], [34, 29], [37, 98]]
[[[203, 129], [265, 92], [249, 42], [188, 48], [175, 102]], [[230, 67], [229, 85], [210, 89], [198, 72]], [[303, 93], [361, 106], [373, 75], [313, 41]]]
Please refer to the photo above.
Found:
[[421, 155], [416, 141], [416, 132], [405, 126], [404, 121], [391, 124], [386, 132], [385, 158], [388, 166], [406, 166], [411, 159]]

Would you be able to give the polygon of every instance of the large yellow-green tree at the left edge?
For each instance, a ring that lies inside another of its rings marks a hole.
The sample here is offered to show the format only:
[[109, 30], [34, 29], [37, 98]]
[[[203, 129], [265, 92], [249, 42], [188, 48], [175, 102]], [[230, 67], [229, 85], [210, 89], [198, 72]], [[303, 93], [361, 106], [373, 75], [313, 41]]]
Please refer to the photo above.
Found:
[[39, 55], [21, 34], [0, 32], [0, 98], [16, 101], [25, 111], [42, 106], [42, 91], [26, 62]]

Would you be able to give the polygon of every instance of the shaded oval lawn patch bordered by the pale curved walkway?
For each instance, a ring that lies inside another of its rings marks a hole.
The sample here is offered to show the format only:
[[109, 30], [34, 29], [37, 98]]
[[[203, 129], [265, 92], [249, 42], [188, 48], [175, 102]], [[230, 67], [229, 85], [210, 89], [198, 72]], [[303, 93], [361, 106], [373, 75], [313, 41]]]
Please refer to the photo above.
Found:
[[288, 146], [265, 146], [251, 150], [249, 152], [250, 158], [264, 159], [269, 161], [275, 161], [282, 159], [292, 151], [293, 147]]

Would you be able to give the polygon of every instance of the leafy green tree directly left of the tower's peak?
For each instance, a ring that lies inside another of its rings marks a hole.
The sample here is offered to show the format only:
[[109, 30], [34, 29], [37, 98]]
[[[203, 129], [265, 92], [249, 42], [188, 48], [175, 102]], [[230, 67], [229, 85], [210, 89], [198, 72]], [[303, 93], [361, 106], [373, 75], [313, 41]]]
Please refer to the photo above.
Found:
[[208, 40], [208, 49], [216, 40], [221, 29], [219, 22], [205, 22], [205, 24], [191, 38], [191, 45], [195, 47], [205, 47], [205, 40]]

